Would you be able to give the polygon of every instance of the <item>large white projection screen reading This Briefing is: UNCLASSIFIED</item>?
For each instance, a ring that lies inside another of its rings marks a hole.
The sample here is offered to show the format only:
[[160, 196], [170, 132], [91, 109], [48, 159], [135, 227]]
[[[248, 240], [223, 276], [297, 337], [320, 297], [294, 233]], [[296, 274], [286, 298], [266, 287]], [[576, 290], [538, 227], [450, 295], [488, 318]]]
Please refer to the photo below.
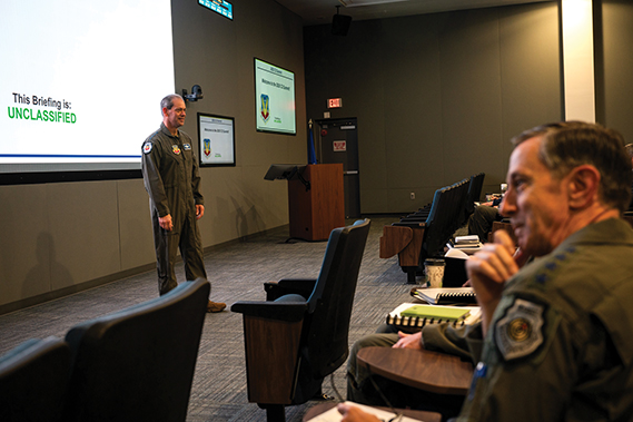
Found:
[[16, 1], [0, 39], [0, 184], [141, 177], [175, 91], [170, 0]]

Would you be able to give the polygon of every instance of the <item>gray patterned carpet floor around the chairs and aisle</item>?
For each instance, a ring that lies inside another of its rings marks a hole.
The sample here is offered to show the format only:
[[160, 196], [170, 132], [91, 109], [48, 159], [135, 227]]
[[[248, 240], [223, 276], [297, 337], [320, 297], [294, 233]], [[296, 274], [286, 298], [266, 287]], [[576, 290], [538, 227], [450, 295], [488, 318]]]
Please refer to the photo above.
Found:
[[[378, 256], [383, 226], [398, 217], [372, 217], [360, 275], [355, 296], [349, 345], [375, 332], [385, 316], [408, 301], [411, 285], [397, 265], [397, 258]], [[350, 223], [350, 222], [348, 222]], [[318, 275], [326, 242], [286, 242], [288, 228], [253, 236], [205, 255], [211, 300], [226, 302], [265, 298], [263, 283], [285, 277]], [[185, 279], [181, 265], [179, 281]], [[0, 316], [0, 354], [29, 338], [49, 335], [63, 337], [75, 324], [141, 303], [157, 296], [155, 272], [139, 274], [60, 300]], [[241, 315], [229, 310], [207, 314], [187, 421], [266, 421], [266, 412], [248, 403]], [[337, 390], [345, 395], [345, 364], [334, 374]], [[324, 393], [335, 395], [329, 380]], [[316, 404], [286, 408], [288, 422], [300, 421]]]

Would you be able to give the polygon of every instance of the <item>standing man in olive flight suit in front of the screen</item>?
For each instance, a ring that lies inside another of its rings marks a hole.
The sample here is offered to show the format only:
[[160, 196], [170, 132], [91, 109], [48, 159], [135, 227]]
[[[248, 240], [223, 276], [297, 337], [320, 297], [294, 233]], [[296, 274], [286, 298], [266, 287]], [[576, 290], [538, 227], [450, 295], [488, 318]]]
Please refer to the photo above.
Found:
[[[174, 271], [178, 247], [187, 279], [207, 278], [207, 272], [197, 224], [205, 214], [198, 160], [191, 138], [178, 130], [187, 116], [185, 100], [172, 94], [160, 101], [160, 108], [162, 124], [142, 144], [141, 168], [149, 194], [158, 292], [164, 295], [178, 285]], [[224, 303], [209, 301], [207, 312], [221, 312], [225, 307]]]

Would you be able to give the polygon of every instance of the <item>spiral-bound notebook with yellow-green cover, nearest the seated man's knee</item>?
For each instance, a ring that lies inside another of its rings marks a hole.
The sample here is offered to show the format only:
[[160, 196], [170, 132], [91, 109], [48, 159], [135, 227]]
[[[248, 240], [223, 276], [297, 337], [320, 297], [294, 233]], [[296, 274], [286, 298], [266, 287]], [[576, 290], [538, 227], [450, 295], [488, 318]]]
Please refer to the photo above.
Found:
[[[454, 313], [457, 314], [454, 314]], [[403, 303], [387, 314], [387, 324], [396, 327], [422, 330], [427, 324], [449, 323], [454, 326], [474, 324], [479, 321], [478, 306], [431, 306], [419, 303]]]

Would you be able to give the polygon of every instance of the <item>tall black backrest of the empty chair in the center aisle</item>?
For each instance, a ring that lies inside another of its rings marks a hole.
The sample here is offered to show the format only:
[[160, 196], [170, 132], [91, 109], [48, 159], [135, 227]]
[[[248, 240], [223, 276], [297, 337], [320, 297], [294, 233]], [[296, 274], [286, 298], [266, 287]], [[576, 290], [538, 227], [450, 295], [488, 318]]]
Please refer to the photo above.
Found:
[[308, 297], [307, 333], [313, 376], [324, 377], [347, 359], [349, 318], [370, 220], [335, 228], [329, 235], [315, 289]]

